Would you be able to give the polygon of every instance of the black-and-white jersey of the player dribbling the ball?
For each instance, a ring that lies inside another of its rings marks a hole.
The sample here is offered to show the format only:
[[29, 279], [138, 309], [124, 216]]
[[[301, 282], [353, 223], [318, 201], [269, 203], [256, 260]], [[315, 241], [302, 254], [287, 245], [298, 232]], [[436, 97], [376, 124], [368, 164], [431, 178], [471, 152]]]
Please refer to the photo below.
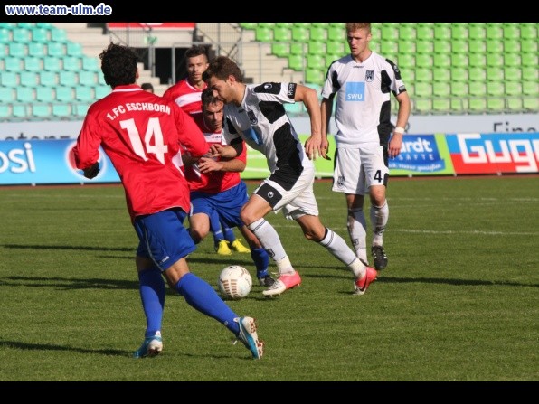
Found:
[[266, 156], [271, 174], [288, 177], [291, 184], [304, 167], [313, 166], [283, 105], [295, 102], [296, 87], [288, 82], [248, 84], [240, 107], [224, 106], [226, 143], [242, 137]]

